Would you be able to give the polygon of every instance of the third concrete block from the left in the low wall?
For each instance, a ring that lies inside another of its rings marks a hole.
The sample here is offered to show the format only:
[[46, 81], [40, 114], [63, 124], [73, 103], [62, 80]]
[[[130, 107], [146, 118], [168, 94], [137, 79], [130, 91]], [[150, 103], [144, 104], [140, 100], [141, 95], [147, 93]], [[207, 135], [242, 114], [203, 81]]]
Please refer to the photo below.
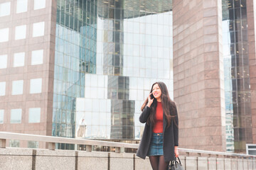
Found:
[[78, 152], [78, 170], [100, 169], [107, 170], [108, 153], [107, 152]]

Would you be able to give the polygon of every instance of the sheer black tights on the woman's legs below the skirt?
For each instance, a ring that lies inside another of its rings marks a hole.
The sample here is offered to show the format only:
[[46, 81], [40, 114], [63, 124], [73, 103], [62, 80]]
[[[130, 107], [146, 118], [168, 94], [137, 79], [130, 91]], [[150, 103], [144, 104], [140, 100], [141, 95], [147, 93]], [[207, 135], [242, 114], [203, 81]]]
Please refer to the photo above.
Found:
[[153, 170], [166, 170], [169, 165], [169, 162], [164, 162], [164, 155], [150, 156], [149, 161]]

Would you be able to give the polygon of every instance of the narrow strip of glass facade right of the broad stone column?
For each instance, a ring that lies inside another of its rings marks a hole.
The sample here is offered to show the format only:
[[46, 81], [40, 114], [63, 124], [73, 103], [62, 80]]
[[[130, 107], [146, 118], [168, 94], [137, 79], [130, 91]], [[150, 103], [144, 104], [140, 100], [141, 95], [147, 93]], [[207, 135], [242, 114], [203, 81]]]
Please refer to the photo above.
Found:
[[245, 0], [223, 0], [223, 57], [227, 151], [244, 152], [252, 143]]

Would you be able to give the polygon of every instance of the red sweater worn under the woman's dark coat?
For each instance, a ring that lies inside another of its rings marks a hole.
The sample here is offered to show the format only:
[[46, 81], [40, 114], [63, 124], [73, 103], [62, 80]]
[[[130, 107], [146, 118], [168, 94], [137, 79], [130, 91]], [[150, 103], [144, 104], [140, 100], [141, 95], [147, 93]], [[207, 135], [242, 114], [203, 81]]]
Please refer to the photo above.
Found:
[[156, 106], [156, 118], [154, 123], [153, 132], [154, 133], [162, 133], [163, 132], [163, 108], [161, 106], [161, 102], [157, 102]]

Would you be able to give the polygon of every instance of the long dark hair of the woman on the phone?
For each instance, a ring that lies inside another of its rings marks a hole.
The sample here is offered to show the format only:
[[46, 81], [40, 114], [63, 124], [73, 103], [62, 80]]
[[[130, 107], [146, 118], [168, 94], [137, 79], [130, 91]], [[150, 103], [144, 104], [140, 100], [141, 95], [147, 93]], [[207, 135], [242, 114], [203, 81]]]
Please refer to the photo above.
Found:
[[[166, 120], [167, 120], [167, 124], [169, 126], [169, 125], [171, 125], [171, 118], [175, 117], [176, 105], [175, 105], [174, 101], [171, 101], [171, 98], [169, 96], [169, 92], [168, 92], [166, 84], [164, 84], [164, 82], [161, 82], [161, 81], [155, 82], [151, 86], [150, 93], [152, 93], [153, 86], [155, 84], [158, 84], [159, 88], [161, 89], [161, 104], [162, 104], [162, 107], [163, 107], [164, 115], [165, 115]], [[147, 97], [146, 100], [144, 101], [143, 105], [142, 105], [142, 111], [144, 110], [144, 108], [146, 107], [148, 102], [149, 102], [149, 98]], [[156, 106], [157, 106], [157, 101], [156, 101], [156, 98], [154, 98], [154, 101], [150, 106], [151, 109], [150, 109], [149, 118], [146, 121], [146, 123], [148, 125], [150, 123], [152, 125], [154, 125], [154, 120], [155, 120], [155, 115], [156, 115]]]

